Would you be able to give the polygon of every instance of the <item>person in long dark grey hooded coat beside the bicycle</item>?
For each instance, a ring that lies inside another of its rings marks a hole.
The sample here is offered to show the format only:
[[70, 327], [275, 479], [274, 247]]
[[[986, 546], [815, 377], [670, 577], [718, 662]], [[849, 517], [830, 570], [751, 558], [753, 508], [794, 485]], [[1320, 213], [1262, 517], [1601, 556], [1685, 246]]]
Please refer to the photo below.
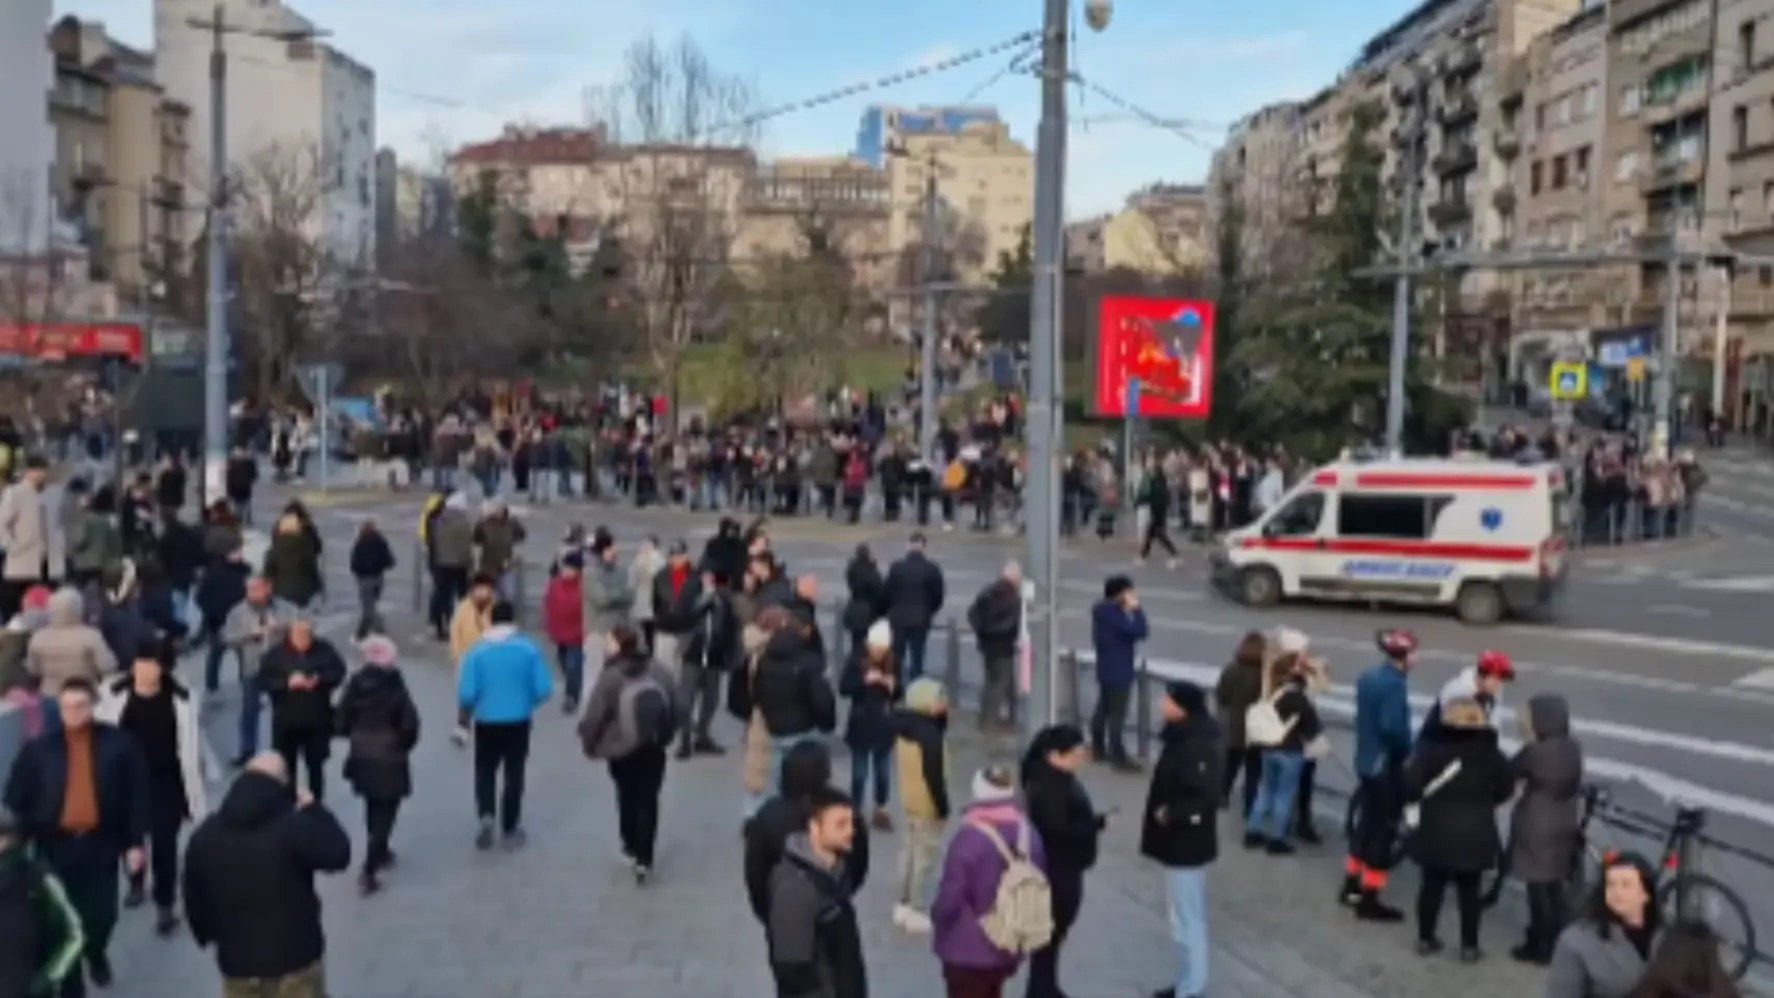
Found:
[[1510, 812], [1510, 874], [1527, 888], [1527, 934], [1510, 950], [1545, 964], [1565, 929], [1565, 885], [1579, 842], [1582, 746], [1570, 734], [1570, 704], [1542, 693], [1522, 714], [1522, 748], [1510, 760], [1520, 796]]

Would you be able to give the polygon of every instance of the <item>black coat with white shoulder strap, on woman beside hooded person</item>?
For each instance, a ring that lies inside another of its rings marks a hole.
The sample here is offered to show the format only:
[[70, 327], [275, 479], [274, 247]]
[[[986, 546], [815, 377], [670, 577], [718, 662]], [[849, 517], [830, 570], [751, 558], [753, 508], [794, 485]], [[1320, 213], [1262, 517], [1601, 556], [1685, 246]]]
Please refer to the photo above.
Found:
[[[1460, 768], [1428, 796], [1430, 785]], [[1421, 803], [1410, 858], [1425, 869], [1480, 874], [1497, 865], [1497, 807], [1515, 794], [1515, 771], [1492, 727], [1435, 727], [1405, 764], [1405, 799]]]

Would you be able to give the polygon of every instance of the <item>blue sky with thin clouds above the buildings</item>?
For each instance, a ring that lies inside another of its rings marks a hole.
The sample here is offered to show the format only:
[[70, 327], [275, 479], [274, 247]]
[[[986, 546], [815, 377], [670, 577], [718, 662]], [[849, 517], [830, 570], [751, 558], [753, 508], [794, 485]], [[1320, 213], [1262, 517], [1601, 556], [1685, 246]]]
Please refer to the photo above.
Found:
[[[4, 2], [4, 0], [0, 0]], [[334, 44], [378, 73], [378, 131], [408, 158], [498, 131], [506, 121], [582, 122], [587, 90], [621, 80], [623, 48], [644, 32], [688, 32], [722, 73], [743, 76], [768, 106], [990, 46], [1040, 21], [1040, 0], [293, 0]], [[1082, 0], [1077, 0], [1082, 7]], [[1201, 181], [1224, 126], [1270, 101], [1329, 83], [1407, 0], [1116, 0], [1103, 34], [1084, 34], [1075, 67], [1187, 136], [1130, 121], [1073, 90], [1068, 216], [1116, 207], [1151, 181]], [[57, 0], [57, 14], [101, 19], [122, 41], [151, 43], [153, 0]], [[766, 154], [834, 154], [855, 145], [869, 103], [997, 105], [1034, 142], [1038, 85], [999, 74], [993, 57], [937, 76], [782, 115]], [[983, 87], [983, 89], [981, 89]]]

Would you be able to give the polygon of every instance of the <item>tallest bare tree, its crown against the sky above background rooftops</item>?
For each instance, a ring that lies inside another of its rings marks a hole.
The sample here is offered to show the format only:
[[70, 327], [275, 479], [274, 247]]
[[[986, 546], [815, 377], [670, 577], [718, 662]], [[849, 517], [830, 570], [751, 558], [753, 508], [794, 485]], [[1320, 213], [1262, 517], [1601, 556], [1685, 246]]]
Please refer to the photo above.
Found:
[[624, 248], [635, 331], [678, 411], [685, 349], [720, 321], [740, 195], [756, 167], [752, 89], [718, 73], [688, 37], [628, 48], [605, 122], [616, 147], [614, 229]]

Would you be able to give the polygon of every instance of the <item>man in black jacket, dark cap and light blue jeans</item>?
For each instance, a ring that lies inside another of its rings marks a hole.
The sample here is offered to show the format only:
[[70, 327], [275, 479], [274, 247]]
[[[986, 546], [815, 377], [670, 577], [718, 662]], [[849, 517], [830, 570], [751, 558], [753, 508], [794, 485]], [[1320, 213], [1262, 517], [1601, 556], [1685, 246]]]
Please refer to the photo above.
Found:
[[1164, 693], [1158, 764], [1151, 769], [1139, 853], [1164, 867], [1176, 984], [1155, 998], [1199, 998], [1208, 989], [1208, 867], [1219, 858], [1221, 764], [1226, 748], [1208, 695], [1194, 682]]

